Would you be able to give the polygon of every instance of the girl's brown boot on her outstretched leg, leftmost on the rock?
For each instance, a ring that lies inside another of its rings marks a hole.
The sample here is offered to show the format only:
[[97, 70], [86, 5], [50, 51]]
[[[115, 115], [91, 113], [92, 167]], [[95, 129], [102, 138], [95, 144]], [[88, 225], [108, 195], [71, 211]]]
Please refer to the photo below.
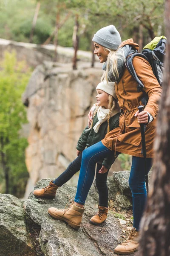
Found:
[[58, 186], [56, 186], [52, 180], [49, 185], [43, 189], [36, 189], [33, 191], [33, 195], [37, 198], [55, 198]]

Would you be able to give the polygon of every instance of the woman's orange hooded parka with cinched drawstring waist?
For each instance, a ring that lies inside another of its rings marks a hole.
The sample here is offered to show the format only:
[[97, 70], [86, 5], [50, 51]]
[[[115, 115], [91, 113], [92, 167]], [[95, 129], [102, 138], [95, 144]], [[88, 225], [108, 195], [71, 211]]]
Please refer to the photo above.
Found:
[[[139, 51], [139, 45], [135, 44], [133, 39], [122, 42], [121, 46], [125, 46], [126, 44], [131, 45]], [[145, 140], [147, 157], [153, 157], [153, 141], [156, 130], [158, 102], [161, 97], [161, 87], [156, 77], [153, 75], [150, 64], [144, 58], [138, 56], [133, 58], [133, 66], [137, 76], [144, 84], [144, 90], [149, 97], [144, 110], [148, 111], [153, 116], [153, 121], [146, 127]], [[141, 129], [137, 117], [135, 116], [136, 111], [138, 111], [137, 107], [142, 105], [141, 99], [143, 93], [137, 91], [137, 82], [130, 75], [127, 67], [124, 67], [122, 78], [119, 83], [116, 83], [115, 89], [122, 111], [119, 118], [119, 127], [106, 134], [102, 143], [115, 152], [143, 157], [141, 152]]]

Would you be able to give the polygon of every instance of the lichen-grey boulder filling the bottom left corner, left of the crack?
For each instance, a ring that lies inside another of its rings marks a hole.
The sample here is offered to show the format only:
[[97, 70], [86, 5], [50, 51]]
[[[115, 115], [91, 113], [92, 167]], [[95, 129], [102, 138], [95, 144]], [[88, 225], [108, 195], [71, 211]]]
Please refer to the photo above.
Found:
[[0, 256], [36, 256], [24, 222], [23, 201], [0, 194]]

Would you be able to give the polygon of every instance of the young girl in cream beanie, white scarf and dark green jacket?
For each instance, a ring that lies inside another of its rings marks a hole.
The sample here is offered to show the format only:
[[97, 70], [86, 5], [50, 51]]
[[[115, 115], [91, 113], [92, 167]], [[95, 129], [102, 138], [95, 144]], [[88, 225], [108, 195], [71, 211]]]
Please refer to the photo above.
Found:
[[[117, 103], [114, 83], [102, 81], [96, 87], [97, 103], [93, 115], [91, 127], [88, 126], [82, 132], [77, 143], [77, 158], [69, 164], [68, 168], [59, 177], [51, 181], [49, 185], [43, 189], [34, 190], [34, 196], [38, 198], [54, 198], [58, 187], [62, 186], [80, 170], [82, 162], [82, 151], [85, 147], [90, 147], [102, 140], [105, 135], [119, 126], [120, 108]], [[102, 161], [97, 161], [96, 171], [96, 187], [99, 191], [99, 211], [91, 218], [91, 223], [95, 225], [102, 224], [108, 214], [108, 187], [107, 176], [108, 171], [114, 162], [114, 156], [105, 157]], [[103, 168], [106, 172], [101, 174]], [[52, 214], [52, 213], [51, 213]]]

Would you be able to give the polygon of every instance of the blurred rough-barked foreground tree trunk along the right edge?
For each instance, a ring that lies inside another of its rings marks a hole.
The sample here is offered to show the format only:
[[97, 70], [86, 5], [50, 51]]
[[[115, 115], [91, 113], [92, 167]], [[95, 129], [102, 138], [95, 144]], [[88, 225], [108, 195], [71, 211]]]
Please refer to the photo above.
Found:
[[157, 123], [155, 161], [147, 209], [141, 223], [140, 256], [170, 255], [170, 0], [165, 2], [167, 50]]

